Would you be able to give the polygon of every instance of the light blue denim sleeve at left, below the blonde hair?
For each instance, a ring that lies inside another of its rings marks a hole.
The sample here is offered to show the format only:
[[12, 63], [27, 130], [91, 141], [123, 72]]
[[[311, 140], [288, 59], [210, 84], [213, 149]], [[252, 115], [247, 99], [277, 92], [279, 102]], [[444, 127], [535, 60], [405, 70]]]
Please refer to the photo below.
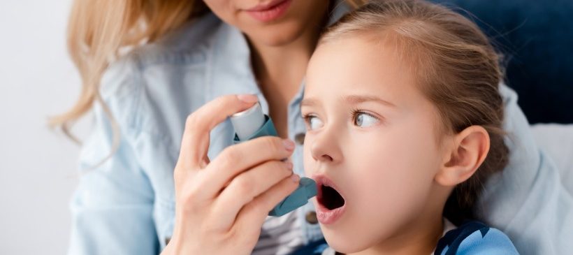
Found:
[[[102, 81], [104, 101], [119, 125], [117, 152], [113, 129], [99, 103], [94, 127], [80, 152], [80, 182], [71, 201], [72, 231], [68, 254], [158, 254], [154, 191], [139, 166], [131, 137], [137, 89], [129, 64], [110, 68]], [[97, 166], [94, 168], [94, 166]]]

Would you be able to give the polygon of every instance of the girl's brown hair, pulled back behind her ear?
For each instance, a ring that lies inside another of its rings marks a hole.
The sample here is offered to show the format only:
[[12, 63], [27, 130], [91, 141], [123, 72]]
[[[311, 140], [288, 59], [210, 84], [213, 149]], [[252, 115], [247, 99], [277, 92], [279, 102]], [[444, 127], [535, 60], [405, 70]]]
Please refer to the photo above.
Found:
[[507, 165], [504, 143], [500, 57], [476, 24], [453, 10], [426, 1], [376, 0], [342, 17], [320, 43], [347, 36], [392, 38], [407, 57], [423, 94], [436, 106], [440, 131], [459, 133], [483, 126], [490, 136], [484, 163], [458, 184], [444, 207], [455, 224], [473, 219], [487, 178]]

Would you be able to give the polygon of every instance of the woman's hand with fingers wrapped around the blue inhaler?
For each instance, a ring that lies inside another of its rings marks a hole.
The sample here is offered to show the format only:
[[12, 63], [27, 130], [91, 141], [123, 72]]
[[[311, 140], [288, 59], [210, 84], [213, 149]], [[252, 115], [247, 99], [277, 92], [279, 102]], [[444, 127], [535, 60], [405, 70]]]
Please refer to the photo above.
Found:
[[209, 134], [254, 95], [222, 96], [187, 118], [175, 166], [175, 230], [163, 254], [251, 254], [270, 210], [298, 187], [291, 140], [266, 136], [209, 161]]

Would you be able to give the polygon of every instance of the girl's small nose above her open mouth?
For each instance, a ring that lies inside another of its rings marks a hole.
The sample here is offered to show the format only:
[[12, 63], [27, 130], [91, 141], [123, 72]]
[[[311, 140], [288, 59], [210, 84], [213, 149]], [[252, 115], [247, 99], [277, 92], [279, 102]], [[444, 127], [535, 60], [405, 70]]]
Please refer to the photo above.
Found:
[[338, 137], [333, 130], [324, 130], [314, 135], [310, 145], [312, 158], [316, 161], [336, 163], [342, 160], [342, 152], [338, 145]]

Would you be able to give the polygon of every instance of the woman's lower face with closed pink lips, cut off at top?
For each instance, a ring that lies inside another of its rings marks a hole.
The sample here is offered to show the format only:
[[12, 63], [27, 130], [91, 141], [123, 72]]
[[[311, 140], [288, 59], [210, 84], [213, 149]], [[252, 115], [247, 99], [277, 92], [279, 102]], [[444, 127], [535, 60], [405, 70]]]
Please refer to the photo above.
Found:
[[320, 27], [328, 8], [328, 0], [204, 1], [219, 18], [265, 45], [290, 43], [307, 29]]

